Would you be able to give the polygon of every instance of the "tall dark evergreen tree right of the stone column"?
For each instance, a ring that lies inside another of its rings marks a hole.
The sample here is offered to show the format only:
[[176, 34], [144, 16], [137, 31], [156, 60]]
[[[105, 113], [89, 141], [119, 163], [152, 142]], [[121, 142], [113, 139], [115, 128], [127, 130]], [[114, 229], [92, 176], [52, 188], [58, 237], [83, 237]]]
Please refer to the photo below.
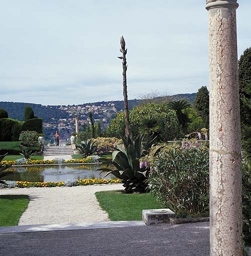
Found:
[[243, 125], [251, 126], [251, 47], [239, 58], [240, 119]]

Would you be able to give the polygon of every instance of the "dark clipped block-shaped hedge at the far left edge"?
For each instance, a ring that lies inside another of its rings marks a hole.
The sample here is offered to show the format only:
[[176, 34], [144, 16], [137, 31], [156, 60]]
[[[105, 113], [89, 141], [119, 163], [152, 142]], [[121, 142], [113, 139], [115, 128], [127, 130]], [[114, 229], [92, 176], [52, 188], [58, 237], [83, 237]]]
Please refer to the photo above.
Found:
[[0, 119], [0, 141], [14, 141], [19, 137], [22, 122], [11, 119]]

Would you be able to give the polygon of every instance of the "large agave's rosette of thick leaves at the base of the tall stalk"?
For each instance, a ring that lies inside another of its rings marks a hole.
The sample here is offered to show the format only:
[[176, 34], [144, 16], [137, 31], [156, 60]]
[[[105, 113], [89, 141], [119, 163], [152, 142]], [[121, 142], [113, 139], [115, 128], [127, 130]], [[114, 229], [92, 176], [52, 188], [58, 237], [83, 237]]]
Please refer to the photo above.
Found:
[[[143, 136], [137, 136], [133, 141], [130, 137], [123, 138], [123, 145], [116, 145], [116, 149], [112, 153], [112, 159], [103, 159], [107, 163], [106, 168], [100, 168], [100, 173], [106, 172], [113, 174], [115, 177], [120, 178], [127, 193], [131, 192], [146, 192], [147, 191], [147, 178], [150, 169], [145, 163], [139, 162], [139, 159], [148, 154], [151, 146], [153, 145], [156, 137], [153, 134], [148, 138], [143, 146]], [[112, 165], [114, 168], [108, 168]]]

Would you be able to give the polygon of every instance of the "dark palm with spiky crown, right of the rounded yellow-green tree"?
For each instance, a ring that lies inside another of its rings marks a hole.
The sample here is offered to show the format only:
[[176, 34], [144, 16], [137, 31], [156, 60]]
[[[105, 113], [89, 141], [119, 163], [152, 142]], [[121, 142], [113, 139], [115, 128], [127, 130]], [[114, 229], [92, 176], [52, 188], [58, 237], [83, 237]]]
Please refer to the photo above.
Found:
[[167, 106], [176, 112], [176, 115], [182, 127], [182, 130], [184, 133], [186, 133], [189, 118], [188, 118], [188, 115], [183, 110], [191, 107], [191, 104], [188, 102], [188, 100], [181, 99], [181, 100], [171, 101], [167, 104]]

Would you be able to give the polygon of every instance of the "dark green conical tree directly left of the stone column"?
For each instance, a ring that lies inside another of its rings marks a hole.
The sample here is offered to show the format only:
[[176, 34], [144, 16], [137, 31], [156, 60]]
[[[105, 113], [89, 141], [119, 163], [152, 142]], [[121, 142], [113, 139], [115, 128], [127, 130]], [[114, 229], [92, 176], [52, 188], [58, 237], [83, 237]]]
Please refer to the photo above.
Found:
[[209, 92], [206, 86], [201, 86], [197, 93], [193, 103], [194, 109], [198, 115], [201, 116], [204, 127], [209, 128]]

